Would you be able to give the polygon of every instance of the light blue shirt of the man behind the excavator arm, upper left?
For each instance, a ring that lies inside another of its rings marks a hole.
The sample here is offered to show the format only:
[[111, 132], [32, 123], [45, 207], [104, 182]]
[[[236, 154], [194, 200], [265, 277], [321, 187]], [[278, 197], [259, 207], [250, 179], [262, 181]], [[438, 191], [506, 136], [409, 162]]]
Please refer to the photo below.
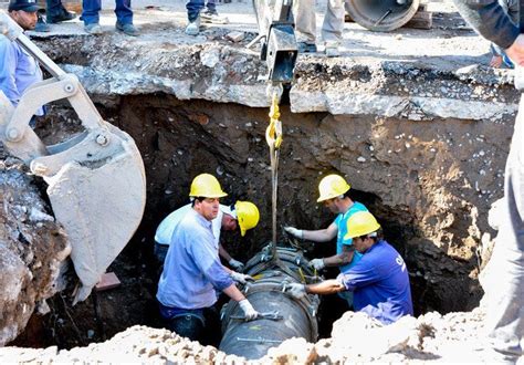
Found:
[[[42, 79], [36, 60], [17, 42], [0, 35], [0, 90], [11, 104], [17, 106], [25, 90]], [[39, 107], [35, 115], [44, 115], [43, 107]]]

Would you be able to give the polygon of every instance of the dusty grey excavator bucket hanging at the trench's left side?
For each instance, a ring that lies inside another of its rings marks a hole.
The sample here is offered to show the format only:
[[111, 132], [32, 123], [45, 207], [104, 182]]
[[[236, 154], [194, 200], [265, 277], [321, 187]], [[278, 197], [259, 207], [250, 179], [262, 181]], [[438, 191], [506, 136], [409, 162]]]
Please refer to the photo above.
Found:
[[[49, 184], [56, 220], [67, 232], [71, 259], [85, 300], [140, 223], [146, 197], [144, 163], [133, 138], [106, 123], [107, 145], [98, 133], [85, 133], [70, 146], [51, 146], [31, 169]], [[62, 150], [63, 149], [63, 150]]]

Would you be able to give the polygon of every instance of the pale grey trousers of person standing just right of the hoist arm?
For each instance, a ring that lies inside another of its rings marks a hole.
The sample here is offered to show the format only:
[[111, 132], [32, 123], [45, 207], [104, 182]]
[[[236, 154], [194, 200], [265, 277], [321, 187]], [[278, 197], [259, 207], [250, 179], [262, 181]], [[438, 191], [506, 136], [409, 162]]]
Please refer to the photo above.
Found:
[[[327, 0], [327, 9], [322, 24], [322, 39], [326, 44], [338, 46], [342, 41], [345, 15], [344, 1]], [[294, 0], [293, 14], [295, 17], [297, 41], [315, 43], [315, 0]]]

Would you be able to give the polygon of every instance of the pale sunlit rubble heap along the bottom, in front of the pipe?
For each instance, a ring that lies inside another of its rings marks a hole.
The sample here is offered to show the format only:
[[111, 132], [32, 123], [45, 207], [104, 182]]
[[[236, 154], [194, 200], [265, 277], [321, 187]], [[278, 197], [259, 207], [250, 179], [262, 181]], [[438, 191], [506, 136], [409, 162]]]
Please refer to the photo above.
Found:
[[135, 325], [109, 341], [86, 347], [59, 351], [6, 347], [0, 362], [142, 362], [155, 364], [311, 364], [312, 362], [501, 362], [482, 340], [483, 312], [440, 315], [427, 313], [382, 325], [364, 313], [346, 312], [334, 323], [331, 338], [316, 344], [291, 338], [269, 351], [259, 361], [227, 355], [212, 346], [178, 336], [167, 330]]

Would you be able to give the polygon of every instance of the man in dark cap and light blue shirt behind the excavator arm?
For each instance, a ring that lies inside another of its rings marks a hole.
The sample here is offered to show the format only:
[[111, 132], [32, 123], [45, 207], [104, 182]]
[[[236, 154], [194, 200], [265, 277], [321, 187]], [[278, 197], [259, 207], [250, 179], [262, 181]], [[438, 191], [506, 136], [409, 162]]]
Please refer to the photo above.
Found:
[[[8, 7], [9, 17], [24, 31], [34, 29], [36, 24], [36, 11], [39, 7], [35, 0], [11, 0]], [[0, 35], [0, 91], [7, 96], [13, 106], [17, 106], [23, 92], [31, 85], [43, 80], [40, 65], [17, 42]], [[44, 115], [40, 107], [35, 115]], [[34, 119], [31, 122], [34, 126]]]

